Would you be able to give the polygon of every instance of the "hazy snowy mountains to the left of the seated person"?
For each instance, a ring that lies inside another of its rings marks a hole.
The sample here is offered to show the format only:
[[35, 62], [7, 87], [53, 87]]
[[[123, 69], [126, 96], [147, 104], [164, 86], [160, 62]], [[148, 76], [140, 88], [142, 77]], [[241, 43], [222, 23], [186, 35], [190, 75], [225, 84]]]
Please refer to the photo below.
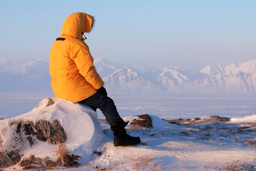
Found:
[[49, 62], [44, 58], [22, 63], [0, 58], [1, 91], [50, 90]]

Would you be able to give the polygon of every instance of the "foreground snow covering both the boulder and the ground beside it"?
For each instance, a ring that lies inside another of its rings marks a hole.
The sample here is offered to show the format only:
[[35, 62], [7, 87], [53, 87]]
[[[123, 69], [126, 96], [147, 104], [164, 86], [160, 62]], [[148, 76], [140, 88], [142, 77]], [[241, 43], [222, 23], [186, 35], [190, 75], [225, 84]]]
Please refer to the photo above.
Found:
[[[58, 119], [67, 133], [64, 142], [67, 153], [78, 155], [81, 165], [64, 166], [65, 170], [255, 170], [256, 169], [256, 114], [231, 118], [229, 123], [192, 120], [190, 124], [171, 124], [161, 118], [148, 115], [153, 128], [134, 126], [138, 116], [128, 116], [127, 126], [131, 136], [140, 136], [141, 144], [115, 147], [110, 126], [97, 119], [97, 113], [85, 105], [52, 98], [38, 108], [15, 118], [0, 120], [1, 144], [10, 143], [12, 121]], [[47, 107], [46, 107], [47, 106]], [[29, 146], [29, 145], [28, 145]], [[39, 141], [32, 148], [24, 146], [23, 158], [56, 159], [58, 146]], [[36, 165], [36, 163], [34, 163]], [[19, 163], [5, 170], [23, 169]], [[39, 169], [39, 168], [38, 168]]]

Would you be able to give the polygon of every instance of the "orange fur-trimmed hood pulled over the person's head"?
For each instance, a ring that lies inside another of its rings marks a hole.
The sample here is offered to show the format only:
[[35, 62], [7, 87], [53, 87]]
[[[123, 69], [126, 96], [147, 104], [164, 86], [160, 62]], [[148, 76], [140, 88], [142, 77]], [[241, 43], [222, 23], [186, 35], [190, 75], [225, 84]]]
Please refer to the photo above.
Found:
[[69, 35], [81, 39], [82, 32], [89, 33], [92, 29], [93, 17], [86, 13], [72, 13], [63, 23], [61, 35]]

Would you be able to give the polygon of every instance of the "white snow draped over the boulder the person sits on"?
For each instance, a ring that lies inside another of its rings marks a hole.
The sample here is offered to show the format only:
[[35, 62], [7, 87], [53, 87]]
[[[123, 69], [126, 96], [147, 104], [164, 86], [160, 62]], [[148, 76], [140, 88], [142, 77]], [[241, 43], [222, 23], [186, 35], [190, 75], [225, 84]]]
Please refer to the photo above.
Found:
[[[90, 156], [94, 148], [97, 148], [101, 142], [104, 142], [105, 135], [102, 133], [101, 124], [95, 113], [89, 106], [74, 104], [63, 99], [53, 98], [55, 103], [51, 106], [44, 104], [46, 99], [41, 102], [41, 106], [36, 107], [28, 113], [24, 113], [15, 118], [0, 120], [1, 124], [1, 139], [5, 143], [11, 141], [12, 132], [10, 123], [13, 120], [18, 121], [36, 121], [46, 120], [53, 122], [58, 120], [64, 127], [67, 134], [66, 148], [71, 153], [76, 153], [81, 156], [80, 161], [86, 163], [90, 161]], [[7, 128], [3, 127], [7, 126]], [[10, 131], [4, 131], [9, 129]], [[8, 134], [6, 134], [8, 132]], [[49, 154], [53, 158], [57, 151], [57, 145], [39, 142], [31, 150], [25, 151], [23, 157], [29, 157], [33, 153], [37, 157], [44, 157]]]

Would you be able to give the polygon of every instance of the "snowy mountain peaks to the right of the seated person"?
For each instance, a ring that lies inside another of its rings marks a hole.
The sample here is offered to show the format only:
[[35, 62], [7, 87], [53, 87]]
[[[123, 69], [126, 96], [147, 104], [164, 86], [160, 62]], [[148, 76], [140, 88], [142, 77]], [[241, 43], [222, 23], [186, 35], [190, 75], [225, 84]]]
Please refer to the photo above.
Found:
[[[177, 67], [154, 72], [143, 70], [140, 73], [136, 73], [136, 69], [124, 67], [103, 80], [111, 93], [255, 93], [255, 63], [256, 60], [250, 60], [231, 64], [225, 69], [220, 65], [207, 65], [194, 74]], [[141, 87], [144, 89], [141, 90]]]

